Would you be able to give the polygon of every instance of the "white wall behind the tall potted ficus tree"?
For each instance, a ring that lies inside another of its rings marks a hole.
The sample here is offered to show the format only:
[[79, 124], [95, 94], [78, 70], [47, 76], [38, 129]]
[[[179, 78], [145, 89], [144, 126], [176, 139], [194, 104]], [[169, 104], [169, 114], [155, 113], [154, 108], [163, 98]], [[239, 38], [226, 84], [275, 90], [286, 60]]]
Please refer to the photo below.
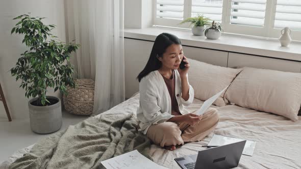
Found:
[[[9, 70], [15, 66], [20, 54], [26, 50], [21, 44], [19, 35], [10, 35], [12, 27], [17, 23], [14, 17], [31, 13], [31, 16], [47, 17], [45, 24], [55, 24], [53, 34], [65, 41], [64, 1], [62, 0], [5, 0], [0, 1], [0, 82], [2, 84], [8, 107], [13, 119], [28, 118], [28, 100], [25, 91], [19, 88], [20, 81], [15, 81]], [[49, 89], [50, 90], [50, 89]], [[49, 91], [48, 95], [59, 96]], [[0, 104], [0, 119], [7, 119], [6, 112]]]

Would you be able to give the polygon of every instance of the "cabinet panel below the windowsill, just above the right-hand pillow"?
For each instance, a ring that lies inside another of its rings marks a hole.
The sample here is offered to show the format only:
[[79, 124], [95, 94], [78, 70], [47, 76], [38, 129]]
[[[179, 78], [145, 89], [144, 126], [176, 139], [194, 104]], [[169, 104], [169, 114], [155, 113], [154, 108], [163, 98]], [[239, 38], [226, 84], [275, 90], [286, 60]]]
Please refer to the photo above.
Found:
[[300, 73], [301, 62], [229, 52], [228, 67], [253, 67]]

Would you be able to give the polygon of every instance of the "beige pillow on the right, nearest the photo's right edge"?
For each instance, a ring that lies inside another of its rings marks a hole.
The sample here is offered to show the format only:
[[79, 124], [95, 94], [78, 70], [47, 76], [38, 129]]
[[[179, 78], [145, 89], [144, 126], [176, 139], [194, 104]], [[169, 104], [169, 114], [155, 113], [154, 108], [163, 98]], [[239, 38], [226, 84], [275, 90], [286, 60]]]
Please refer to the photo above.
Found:
[[301, 104], [301, 73], [243, 68], [225, 92], [225, 102], [297, 121]]

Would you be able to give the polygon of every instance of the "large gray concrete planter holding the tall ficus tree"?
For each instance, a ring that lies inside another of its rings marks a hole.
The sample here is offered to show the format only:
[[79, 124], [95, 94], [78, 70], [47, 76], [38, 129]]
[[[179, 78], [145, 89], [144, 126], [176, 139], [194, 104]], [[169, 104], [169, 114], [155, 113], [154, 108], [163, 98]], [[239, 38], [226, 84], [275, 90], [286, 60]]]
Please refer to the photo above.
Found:
[[28, 102], [30, 126], [33, 132], [47, 134], [58, 131], [62, 127], [62, 107], [61, 100], [54, 96], [47, 96], [58, 100], [56, 104], [49, 106], [35, 106], [31, 103], [38, 98], [33, 98]]

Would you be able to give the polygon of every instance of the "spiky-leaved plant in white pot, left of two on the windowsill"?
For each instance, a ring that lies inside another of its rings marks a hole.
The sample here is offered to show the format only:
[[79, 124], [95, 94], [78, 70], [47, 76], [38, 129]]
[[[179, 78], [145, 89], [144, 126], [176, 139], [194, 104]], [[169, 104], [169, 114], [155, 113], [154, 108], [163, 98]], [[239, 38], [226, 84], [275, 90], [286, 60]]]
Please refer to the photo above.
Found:
[[203, 36], [204, 35], [204, 29], [206, 25], [210, 25], [210, 19], [203, 16], [203, 15], [197, 15], [195, 17], [187, 18], [183, 20], [180, 24], [183, 23], [190, 23], [189, 26], [193, 24], [193, 27], [191, 29], [191, 32], [195, 36]]

